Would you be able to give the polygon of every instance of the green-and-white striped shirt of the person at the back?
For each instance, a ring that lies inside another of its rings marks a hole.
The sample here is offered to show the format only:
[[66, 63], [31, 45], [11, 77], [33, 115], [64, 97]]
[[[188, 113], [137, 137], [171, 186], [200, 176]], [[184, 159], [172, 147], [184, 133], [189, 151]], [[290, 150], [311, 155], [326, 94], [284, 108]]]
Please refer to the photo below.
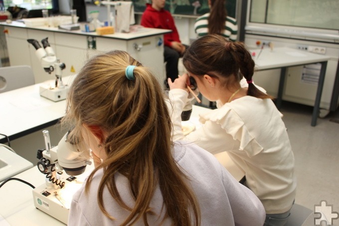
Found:
[[[208, 34], [208, 27], [207, 27], [208, 16], [209, 16], [209, 12], [199, 16], [195, 20], [194, 31], [198, 35], [198, 37]], [[237, 25], [236, 19], [230, 16], [227, 16], [225, 18], [225, 29], [222, 35], [231, 41], [236, 41], [237, 32], [238, 32], [238, 25]]]

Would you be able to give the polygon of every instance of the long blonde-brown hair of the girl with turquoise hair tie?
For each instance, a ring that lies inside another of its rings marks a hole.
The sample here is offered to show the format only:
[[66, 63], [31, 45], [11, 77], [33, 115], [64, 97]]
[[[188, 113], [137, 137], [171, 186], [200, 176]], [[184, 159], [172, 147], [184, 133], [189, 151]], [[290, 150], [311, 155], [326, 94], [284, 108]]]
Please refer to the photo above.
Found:
[[[128, 65], [136, 65], [135, 79], [125, 76]], [[70, 88], [67, 114], [63, 122], [75, 124], [71, 136], [79, 136], [82, 124], [101, 127], [107, 133], [104, 148], [107, 159], [89, 176], [103, 168], [98, 190], [101, 211], [107, 187], [119, 205], [130, 211], [122, 225], [133, 225], [154, 214], [150, 203], [159, 185], [164, 199], [165, 217], [176, 226], [198, 226], [200, 210], [188, 178], [172, 156], [169, 112], [162, 88], [150, 70], [124, 51], [111, 51], [95, 56], [81, 69]], [[129, 181], [135, 206], [128, 207], [121, 199], [115, 183], [119, 172]]]

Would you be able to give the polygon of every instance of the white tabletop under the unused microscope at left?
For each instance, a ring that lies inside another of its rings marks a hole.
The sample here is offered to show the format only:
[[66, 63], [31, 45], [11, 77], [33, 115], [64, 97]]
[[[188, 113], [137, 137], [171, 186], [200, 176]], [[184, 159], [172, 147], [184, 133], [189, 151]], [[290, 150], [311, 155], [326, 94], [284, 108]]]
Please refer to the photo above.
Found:
[[[63, 77], [70, 84], [75, 75]], [[51, 83], [49, 80], [43, 83]], [[39, 94], [42, 83], [0, 93], [0, 133], [17, 135], [65, 115], [66, 101], [53, 102]], [[1, 138], [1, 136], [0, 136]]]

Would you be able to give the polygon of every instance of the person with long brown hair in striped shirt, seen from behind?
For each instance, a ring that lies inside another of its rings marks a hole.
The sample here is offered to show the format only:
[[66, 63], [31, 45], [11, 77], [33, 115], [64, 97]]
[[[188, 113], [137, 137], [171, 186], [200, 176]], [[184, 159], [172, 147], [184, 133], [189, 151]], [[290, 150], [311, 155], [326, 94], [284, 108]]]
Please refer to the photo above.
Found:
[[231, 41], [237, 40], [238, 26], [235, 18], [227, 15], [225, 0], [208, 0], [210, 12], [196, 18], [194, 31], [198, 37], [220, 34]]

